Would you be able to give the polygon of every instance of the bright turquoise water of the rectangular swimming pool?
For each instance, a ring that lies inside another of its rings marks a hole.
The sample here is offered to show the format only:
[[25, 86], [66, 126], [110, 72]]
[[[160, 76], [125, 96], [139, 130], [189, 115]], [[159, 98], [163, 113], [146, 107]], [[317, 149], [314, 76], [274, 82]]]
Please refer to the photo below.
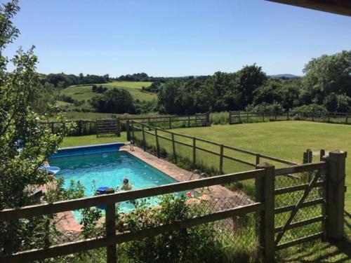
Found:
[[[84, 185], [85, 196], [93, 196], [98, 187], [113, 187], [122, 185], [122, 180], [128, 177], [133, 189], [155, 187], [162, 184], [177, 182], [160, 170], [148, 165], [126, 151], [114, 151], [84, 156], [67, 156], [50, 159], [51, 166], [58, 166], [61, 170], [56, 177], [65, 179], [67, 189], [71, 180]], [[158, 199], [150, 199], [150, 203], [157, 204]], [[123, 202], [119, 206], [120, 213], [128, 213], [134, 205]], [[77, 222], [80, 222], [79, 211], [73, 211]]]

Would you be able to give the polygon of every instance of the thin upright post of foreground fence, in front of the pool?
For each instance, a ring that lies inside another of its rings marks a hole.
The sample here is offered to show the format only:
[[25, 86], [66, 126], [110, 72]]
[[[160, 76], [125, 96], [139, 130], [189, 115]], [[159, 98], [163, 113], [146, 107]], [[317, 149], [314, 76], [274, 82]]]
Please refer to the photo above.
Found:
[[[113, 194], [112, 189], [109, 194]], [[106, 205], [106, 237], [116, 235], [116, 205], [107, 203]], [[116, 244], [107, 246], [107, 263], [117, 262], [117, 247]]]

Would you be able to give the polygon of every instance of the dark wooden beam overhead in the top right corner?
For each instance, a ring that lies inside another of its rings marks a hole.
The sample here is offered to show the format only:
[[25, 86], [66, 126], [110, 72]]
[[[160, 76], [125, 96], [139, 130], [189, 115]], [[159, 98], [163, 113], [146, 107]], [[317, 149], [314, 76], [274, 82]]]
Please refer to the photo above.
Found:
[[317, 11], [351, 16], [350, 0], [266, 0], [291, 6], [310, 8]]

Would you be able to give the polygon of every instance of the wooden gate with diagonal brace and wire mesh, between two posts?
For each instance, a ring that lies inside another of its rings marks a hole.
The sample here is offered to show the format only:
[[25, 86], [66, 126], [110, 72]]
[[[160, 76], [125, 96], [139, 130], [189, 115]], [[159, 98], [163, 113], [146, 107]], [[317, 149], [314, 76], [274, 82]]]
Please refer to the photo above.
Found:
[[[275, 238], [277, 248], [324, 232], [324, 166], [275, 180]], [[282, 245], [283, 244], [283, 245]]]

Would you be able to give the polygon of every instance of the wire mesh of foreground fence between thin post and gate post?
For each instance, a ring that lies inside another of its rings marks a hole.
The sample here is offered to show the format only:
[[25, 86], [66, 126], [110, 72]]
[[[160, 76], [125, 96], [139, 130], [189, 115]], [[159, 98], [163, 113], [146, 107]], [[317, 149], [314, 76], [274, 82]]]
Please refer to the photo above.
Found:
[[[216, 186], [220, 187], [220, 186]], [[243, 192], [215, 197], [216, 189], [194, 189], [155, 199], [133, 200], [135, 210], [120, 215], [117, 232], [157, 229], [253, 203]], [[157, 231], [157, 230], [154, 230]], [[255, 262], [258, 241], [254, 213], [197, 224], [118, 245], [121, 262]]]

